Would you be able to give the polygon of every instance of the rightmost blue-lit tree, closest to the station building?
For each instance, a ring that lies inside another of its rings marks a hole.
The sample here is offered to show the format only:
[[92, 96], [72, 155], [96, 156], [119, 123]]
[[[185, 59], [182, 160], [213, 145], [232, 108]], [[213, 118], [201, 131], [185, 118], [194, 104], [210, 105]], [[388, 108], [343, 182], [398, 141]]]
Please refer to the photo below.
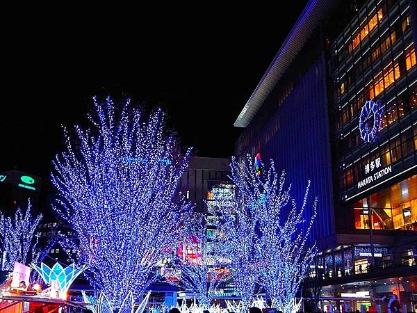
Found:
[[295, 295], [308, 273], [316, 255], [316, 246], [306, 246], [316, 218], [317, 199], [311, 204], [310, 219], [306, 221], [306, 208], [310, 182], [307, 183], [302, 205], [284, 189], [285, 172], [281, 176], [271, 161], [268, 171], [259, 179], [262, 201], [259, 210], [261, 236], [256, 245], [259, 255], [260, 280], [272, 307], [284, 313], [293, 311]]

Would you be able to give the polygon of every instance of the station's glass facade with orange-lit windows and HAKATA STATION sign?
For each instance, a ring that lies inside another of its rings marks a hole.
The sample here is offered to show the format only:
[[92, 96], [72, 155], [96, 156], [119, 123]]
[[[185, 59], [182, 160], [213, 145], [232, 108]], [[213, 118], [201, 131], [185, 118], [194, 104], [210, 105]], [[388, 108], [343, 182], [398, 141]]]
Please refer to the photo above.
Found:
[[[417, 164], [417, 71], [410, 10], [407, 0], [368, 1], [332, 45], [337, 185], [343, 202], [366, 198]], [[373, 122], [363, 113], [368, 100], [377, 103], [379, 115], [377, 135], [370, 143], [361, 138], [359, 125], [361, 119]], [[363, 211], [354, 210], [355, 228], [368, 227]], [[381, 209], [379, 213], [389, 215]], [[385, 229], [383, 217], [375, 227]]]

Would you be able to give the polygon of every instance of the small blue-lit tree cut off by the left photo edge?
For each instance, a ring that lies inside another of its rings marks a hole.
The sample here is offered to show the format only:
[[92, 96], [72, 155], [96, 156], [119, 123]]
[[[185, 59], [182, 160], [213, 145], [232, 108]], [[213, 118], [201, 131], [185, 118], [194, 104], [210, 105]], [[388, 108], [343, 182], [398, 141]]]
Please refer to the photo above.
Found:
[[28, 201], [26, 211], [17, 208], [15, 217], [5, 217], [0, 212], [0, 236], [3, 246], [2, 264], [3, 271], [13, 271], [15, 262], [22, 264], [37, 263], [41, 251], [38, 250], [38, 236], [35, 229], [38, 227], [42, 214], [34, 217], [31, 214], [31, 202]]

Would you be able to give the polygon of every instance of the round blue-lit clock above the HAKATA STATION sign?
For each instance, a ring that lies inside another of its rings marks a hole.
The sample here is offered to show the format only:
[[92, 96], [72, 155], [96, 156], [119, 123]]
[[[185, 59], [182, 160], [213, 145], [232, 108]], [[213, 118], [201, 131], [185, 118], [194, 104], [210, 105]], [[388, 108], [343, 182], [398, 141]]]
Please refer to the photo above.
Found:
[[359, 115], [359, 132], [366, 143], [373, 143], [381, 126], [381, 116], [377, 102], [368, 100]]

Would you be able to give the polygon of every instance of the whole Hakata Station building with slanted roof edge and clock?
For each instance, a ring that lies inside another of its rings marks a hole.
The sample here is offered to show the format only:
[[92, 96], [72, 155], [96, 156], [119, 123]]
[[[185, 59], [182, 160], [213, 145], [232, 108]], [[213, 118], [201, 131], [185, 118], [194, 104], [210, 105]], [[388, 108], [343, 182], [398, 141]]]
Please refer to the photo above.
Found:
[[235, 122], [236, 157], [298, 201], [311, 179], [328, 312], [417, 312], [416, 22], [413, 0], [309, 1]]

